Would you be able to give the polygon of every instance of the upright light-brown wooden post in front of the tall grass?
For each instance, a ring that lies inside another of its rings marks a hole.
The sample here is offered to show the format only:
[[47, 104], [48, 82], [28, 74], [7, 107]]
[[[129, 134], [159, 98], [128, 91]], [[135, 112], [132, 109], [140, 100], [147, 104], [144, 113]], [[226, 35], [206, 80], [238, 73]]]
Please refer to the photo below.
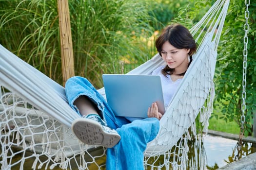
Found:
[[58, 0], [58, 13], [62, 77], [65, 86], [67, 79], [75, 75], [68, 0]]

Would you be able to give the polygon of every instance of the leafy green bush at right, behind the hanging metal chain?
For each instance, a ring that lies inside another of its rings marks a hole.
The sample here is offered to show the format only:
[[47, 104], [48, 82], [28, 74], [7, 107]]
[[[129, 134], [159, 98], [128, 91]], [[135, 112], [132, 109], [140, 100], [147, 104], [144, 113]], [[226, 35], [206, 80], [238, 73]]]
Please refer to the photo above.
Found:
[[[236, 121], [241, 124], [242, 103], [242, 69], [244, 49], [245, 3], [240, 0], [230, 2], [225, 20], [222, 38], [218, 49], [216, 82], [216, 106], [221, 108], [226, 121]], [[256, 112], [256, 3], [249, 6], [249, 33], [246, 77], [246, 122], [245, 135], [251, 135], [253, 115]], [[217, 104], [219, 102], [220, 104]]]

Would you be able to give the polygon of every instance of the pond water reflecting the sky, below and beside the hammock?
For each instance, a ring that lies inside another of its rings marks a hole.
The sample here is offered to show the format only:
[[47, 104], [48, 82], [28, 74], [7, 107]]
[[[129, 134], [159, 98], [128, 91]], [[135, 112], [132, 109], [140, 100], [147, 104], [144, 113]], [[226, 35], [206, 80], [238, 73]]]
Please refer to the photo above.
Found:
[[[216, 170], [221, 168], [235, 160], [237, 154], [236, 140], [227, 139], [219, 136], [207, 135], [203, 138], [198, 138], [194, 141], [189, 141], [189, 153], [188, 153], [188, 170]], [[18, 152], [18, 151], [17, 151]], [[252, 143], [244, 143], [242, 147], [242, 157], [255, 153], [256, 148], [252, 147]], [[12, 162], [20, 160], [22, 154], [18, 154], [12, 158]], [[43, 157], [42, 157], [43, 159]], [[23, 169], [31, 170], [31, 166], [34, 159], [28, 159], [25, 161]], [[97, 160], [98, 164], [105, 162], [105, 157]], [[95, 169], [96, 167], [89, 167], [89, 169]], [[20, 165], [12, 167], [12, 170], [19, 170]], [[42, 167], [44, 169], [44, 167]], [[75, 169], [75, 168], [74, 168]], [[60, 170], [55, 167], [54, 170]]]

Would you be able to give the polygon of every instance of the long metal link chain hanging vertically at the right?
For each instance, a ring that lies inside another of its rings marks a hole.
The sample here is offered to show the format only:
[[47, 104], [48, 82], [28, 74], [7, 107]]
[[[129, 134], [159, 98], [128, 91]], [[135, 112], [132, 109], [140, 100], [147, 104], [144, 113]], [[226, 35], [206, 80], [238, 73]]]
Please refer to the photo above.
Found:
[[[235, 160], [241, 158], [242, 153], [242, 139], [243, 139], [243, 134], [244, 134], [244, 122], [245, 122], [245, 112], [246, 112], [246, 104], [245, 104], [245, 99], [246, 99], [246, 70], [247, 70], [247, 44], [248, 44], [248, 32], [249, 32], [249, 24], [248, 24], [248, 19], [250, 12], [248, 10], [248, 7], [250, 5], [250, 0], [247, 3], [247, 0], [245, 0], [245, 5], [246, 5], [246, 10], [244, 12], [244, 17], [245, 17], [245, 24], [244, 24], [244, 50], [243, 50], [243, 91], [242, 91], [242, 105], [241, 105], [241, 110], [242, 110], [242, 115], [241, 115], [241, 127], [240, 127], [240, 133], [239, 133], [239, 140], [237, 142], [237, 155], [235, 156]], [[240, 155], [239, 155], [240, 154]]]

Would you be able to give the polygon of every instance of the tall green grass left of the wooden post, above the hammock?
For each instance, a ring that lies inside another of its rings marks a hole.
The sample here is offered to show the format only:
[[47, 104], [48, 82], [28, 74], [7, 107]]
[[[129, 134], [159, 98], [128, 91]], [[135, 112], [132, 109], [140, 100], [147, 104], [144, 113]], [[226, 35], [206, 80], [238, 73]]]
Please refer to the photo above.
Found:
[[47, 3], [1, 0], [0, 44], [51, 78], [58, 79], [61, 64], [55, 6], [55, 0]]

